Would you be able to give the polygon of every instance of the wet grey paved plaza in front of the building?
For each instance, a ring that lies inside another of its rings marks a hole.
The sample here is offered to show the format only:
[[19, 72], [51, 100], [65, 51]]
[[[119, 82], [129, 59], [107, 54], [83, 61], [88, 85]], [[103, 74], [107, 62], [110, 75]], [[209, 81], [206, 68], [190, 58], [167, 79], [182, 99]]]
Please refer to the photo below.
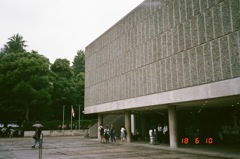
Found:
[[[32, 138], [1, 138], [0, 159], [38, 159], [39, 148], [31, 148]], [[238, 147], [237, 147], [238, 146]], [[212, 147], [185, 146], [170, 149], [167, 145], [149, 145], [146, 142], [101, 144], [97, 139], [83, 137], [45, 137], [44, 159], [227, 159], [240, 158], [239, 145]]]

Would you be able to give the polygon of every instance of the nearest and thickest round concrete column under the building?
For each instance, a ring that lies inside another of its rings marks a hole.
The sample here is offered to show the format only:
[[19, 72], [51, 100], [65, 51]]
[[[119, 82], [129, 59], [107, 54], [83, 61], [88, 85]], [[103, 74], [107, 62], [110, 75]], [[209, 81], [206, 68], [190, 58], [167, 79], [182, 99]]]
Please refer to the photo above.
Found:
[[177, 139], [177, 113], [176, 106], [168, 106], [168, 122], [169, 122], [169, 139], [170, 139], [170, 147], [177, 148], [178, 147], [178, 139]]

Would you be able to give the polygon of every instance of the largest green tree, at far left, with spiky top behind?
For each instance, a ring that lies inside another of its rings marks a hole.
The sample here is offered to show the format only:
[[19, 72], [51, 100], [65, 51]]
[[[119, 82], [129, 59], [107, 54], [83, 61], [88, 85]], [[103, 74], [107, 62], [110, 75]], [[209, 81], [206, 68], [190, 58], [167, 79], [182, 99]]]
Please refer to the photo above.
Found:
[[49, 60], [36, 51], [26, 52], [20, 35], [9, 40], [0, 56], [0, 120], [41, 118], [51, 103]]

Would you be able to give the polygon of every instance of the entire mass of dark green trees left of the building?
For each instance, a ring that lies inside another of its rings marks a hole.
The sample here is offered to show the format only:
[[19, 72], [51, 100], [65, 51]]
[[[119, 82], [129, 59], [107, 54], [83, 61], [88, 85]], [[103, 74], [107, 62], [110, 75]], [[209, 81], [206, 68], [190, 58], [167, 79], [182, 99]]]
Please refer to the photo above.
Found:
[[26, 51], [25, 43], [16, 34], [0, 49], [0, 123], [62, 120], [63, 105], [66, 119], [71, 106], [83, 110], [84, 51], [77, 51], [72, 66], [67, 59], [51, 64], [38, 52]]

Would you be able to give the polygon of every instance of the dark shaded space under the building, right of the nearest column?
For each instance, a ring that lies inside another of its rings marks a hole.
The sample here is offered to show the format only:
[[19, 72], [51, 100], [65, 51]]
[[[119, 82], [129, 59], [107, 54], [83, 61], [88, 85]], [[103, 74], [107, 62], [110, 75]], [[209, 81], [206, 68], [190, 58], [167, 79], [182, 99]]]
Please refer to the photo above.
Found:
[[188, 108], [178, 111], [181, 144], [240, 143], [239, 107]]

